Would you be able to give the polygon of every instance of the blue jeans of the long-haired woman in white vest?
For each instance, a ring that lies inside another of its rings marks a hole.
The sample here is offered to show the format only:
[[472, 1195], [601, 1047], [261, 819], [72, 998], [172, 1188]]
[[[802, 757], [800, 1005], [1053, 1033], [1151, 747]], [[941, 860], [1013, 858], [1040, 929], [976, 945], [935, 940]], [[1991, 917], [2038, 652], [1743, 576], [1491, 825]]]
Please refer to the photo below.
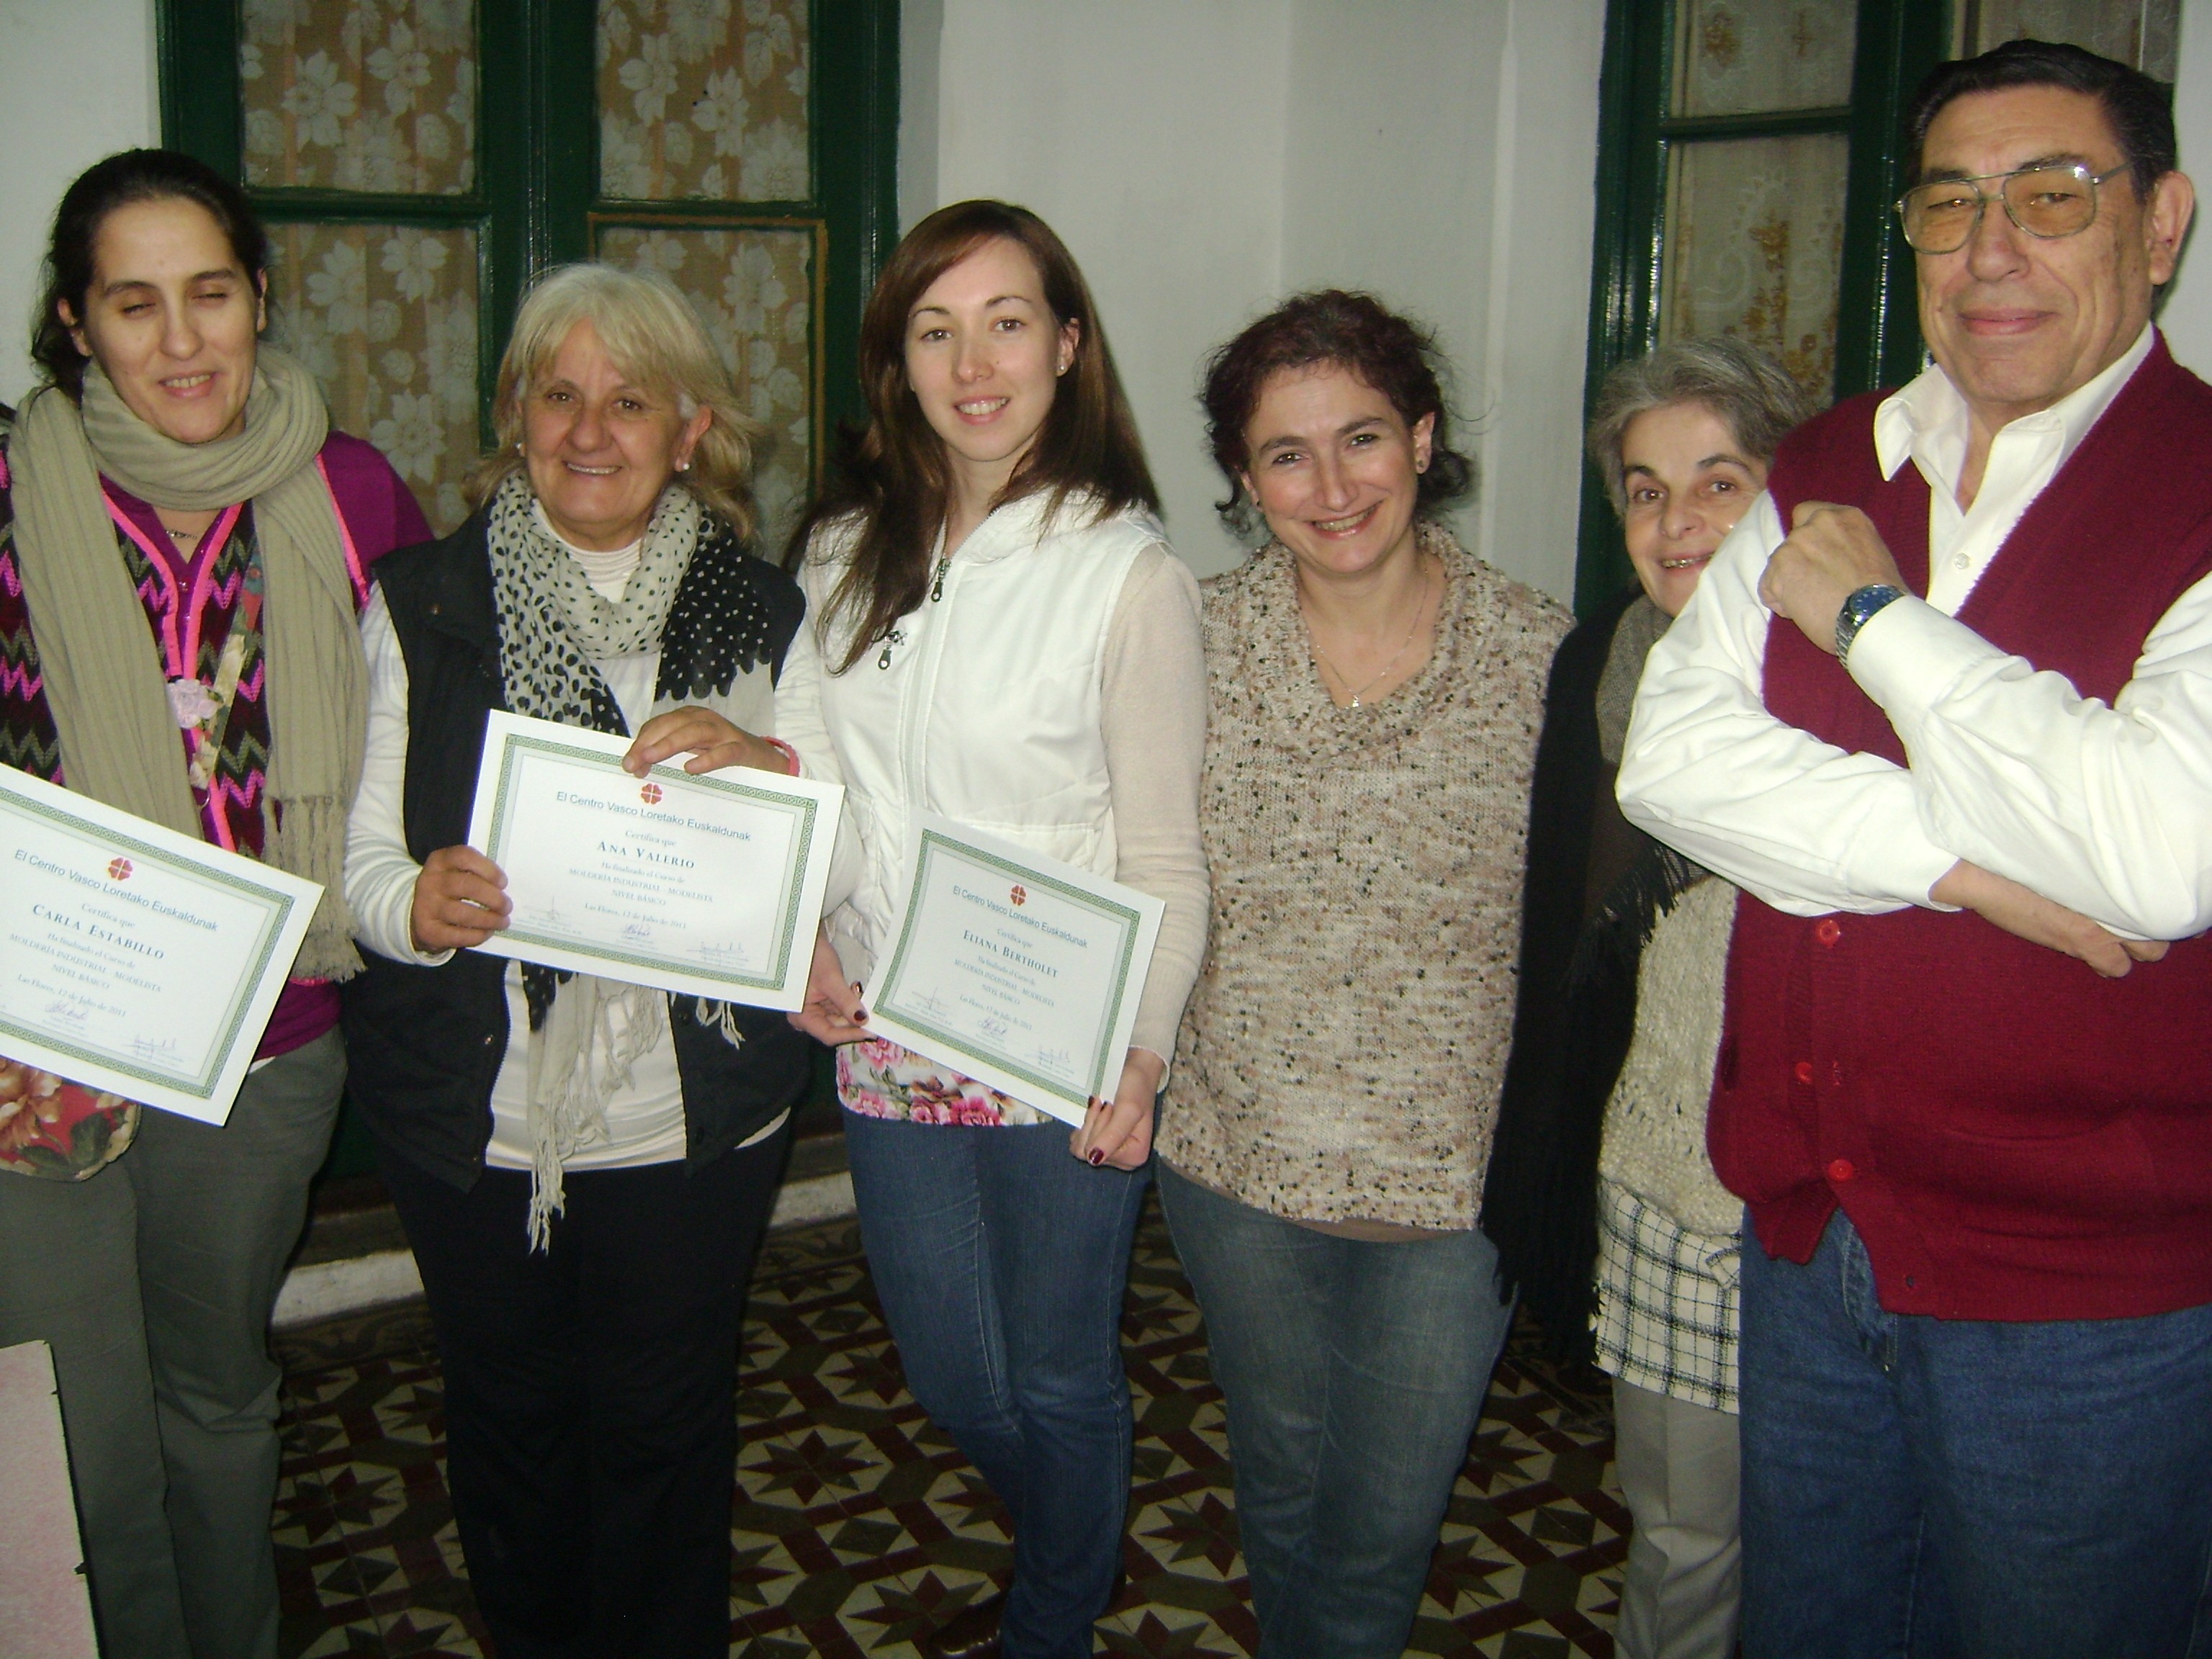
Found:
[[1128, 1513], [1121, 1292], [1146, 1172], [1066, 1124], [845, 1113], [860, 1239], [907, 1387], [1013, 1515], [1006, 1659], [1088, 1659]]

